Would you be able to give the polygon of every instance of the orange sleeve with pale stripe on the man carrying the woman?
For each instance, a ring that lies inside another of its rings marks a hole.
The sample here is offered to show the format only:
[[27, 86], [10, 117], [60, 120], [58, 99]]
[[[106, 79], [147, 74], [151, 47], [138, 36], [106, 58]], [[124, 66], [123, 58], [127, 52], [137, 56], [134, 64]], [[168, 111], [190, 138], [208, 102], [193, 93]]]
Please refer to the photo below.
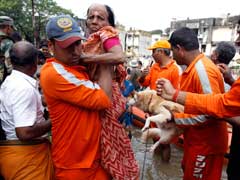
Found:
[[[45, 71], [45, 72], [44, 72]], [[52, 71], [52, 73], [50, 73]], [[84, 74], [66, 70], [62, 65], [44, 68], [40, 76], [44, 94], [87, 109], [105, 109], [110, 100], [100, 86]]]

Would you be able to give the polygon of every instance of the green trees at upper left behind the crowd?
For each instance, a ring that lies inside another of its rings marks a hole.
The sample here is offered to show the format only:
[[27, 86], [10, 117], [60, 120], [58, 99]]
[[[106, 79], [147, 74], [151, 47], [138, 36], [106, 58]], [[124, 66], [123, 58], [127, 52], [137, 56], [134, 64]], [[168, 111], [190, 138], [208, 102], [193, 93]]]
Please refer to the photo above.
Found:
[[[35, 11], [35, 33], [32, 24], [32, 1]], [[33, 42], [34, 34], [38, 41], [44, 38], [48, 19], [60, 14], [74, 16], [71, 10], [58, 6], [54, 0], [0, 0], [0, 15], [13, 18], [17, 30], [30, 42]]]

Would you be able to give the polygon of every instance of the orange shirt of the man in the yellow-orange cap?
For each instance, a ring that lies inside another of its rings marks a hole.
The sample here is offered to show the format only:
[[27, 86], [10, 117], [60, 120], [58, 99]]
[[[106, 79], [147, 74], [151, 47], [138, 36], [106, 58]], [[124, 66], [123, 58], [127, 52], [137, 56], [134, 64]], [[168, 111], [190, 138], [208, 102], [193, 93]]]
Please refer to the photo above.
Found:
[[158, 63], [155, 63], [151, 67], [149, 74], [144, 78], [144, 82], [140, 84], [156, 90], [157, 79], [166, 78], [172, 83], [173, 87], [178, 88], [181, 72], [180, 66], [178, 66], [174, 60], [171, 60], [171, 62], [164, 67], [160, 67]]

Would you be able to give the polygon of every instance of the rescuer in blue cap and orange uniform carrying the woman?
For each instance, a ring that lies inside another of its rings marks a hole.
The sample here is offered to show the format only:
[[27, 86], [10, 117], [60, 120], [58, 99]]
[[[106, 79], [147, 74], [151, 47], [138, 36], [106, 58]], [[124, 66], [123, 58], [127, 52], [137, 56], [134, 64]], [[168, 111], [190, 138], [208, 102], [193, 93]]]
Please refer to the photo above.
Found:
[[80, 27], [67, 15], [53, 17], [46, 26], [49, 48], [40, 84], [52, 121], [52, 158], [57, 180], [108, 180], [100, 164], [100, 111], [110, 107], [111, 75], [98, 83], [86, 68], [73, 66], [82, 53]]

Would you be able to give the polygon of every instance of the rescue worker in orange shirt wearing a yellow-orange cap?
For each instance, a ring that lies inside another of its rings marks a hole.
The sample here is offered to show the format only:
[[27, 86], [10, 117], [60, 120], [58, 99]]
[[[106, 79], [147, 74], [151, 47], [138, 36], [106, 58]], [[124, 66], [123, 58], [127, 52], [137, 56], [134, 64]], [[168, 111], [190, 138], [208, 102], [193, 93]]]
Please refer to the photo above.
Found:
[[[155, 63], [152, 67], [144, 68], [142, 75], [139, 78], [139, 83], [143, 87], [149, 86], [150, 89], [156, 90], [156, 80], [164, 77], [169, 79], [174, 84], [174, 87], [178, 88], [182, 70], [181, 67], [170, 57], [170, 43], [167, 40], [159, 40], [150, 46], [148, 50], [152, 50], [152, 57], [155, 60]], [[169, 162], [171, 157], [170, 144], [160, 144], [159, 148], [162, 160]]]

